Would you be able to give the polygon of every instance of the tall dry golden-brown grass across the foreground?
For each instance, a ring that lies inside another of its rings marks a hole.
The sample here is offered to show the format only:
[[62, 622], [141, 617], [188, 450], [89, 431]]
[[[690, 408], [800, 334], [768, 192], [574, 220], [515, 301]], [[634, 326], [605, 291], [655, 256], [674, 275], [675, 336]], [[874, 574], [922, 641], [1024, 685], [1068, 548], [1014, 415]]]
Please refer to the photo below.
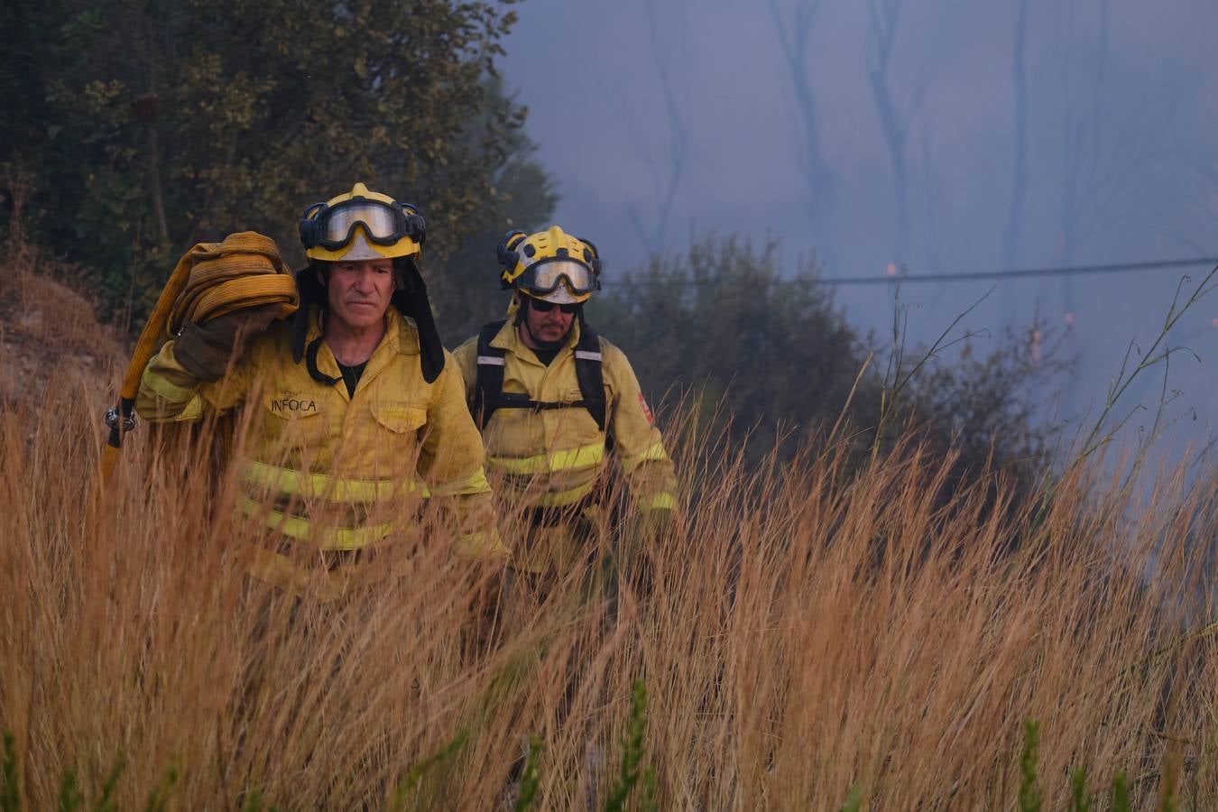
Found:
[[241, 573], [231, 469], [145, 426], [95, 502], [108, 398], [51, 391], [0, 416], [0, 727], [29, 808], [119, 754], [121, 808], [171, 767], [173, 808], [512, 808], [530, 734], [533, 807], [600, 808], [639, 679], [659, 808], [1013, 808], [1029, 717], [1046, 808], [1077, 767], [1152, 805], [1169, 746], [1181, 799], [1218, 802], [1216, 643], [1188, 634], [1212, 611], [1213, 476], [1088, 464], [1004, 506], [995, 481], [944, 499], [916, 447], [750, 472], [672, 431], [686, 504], [649, 594], [605, 586], [607, 538], [540, 606], [518, 582], [488, 631], [490, 573], [434, 508], [395, 577], [294, 603]]

